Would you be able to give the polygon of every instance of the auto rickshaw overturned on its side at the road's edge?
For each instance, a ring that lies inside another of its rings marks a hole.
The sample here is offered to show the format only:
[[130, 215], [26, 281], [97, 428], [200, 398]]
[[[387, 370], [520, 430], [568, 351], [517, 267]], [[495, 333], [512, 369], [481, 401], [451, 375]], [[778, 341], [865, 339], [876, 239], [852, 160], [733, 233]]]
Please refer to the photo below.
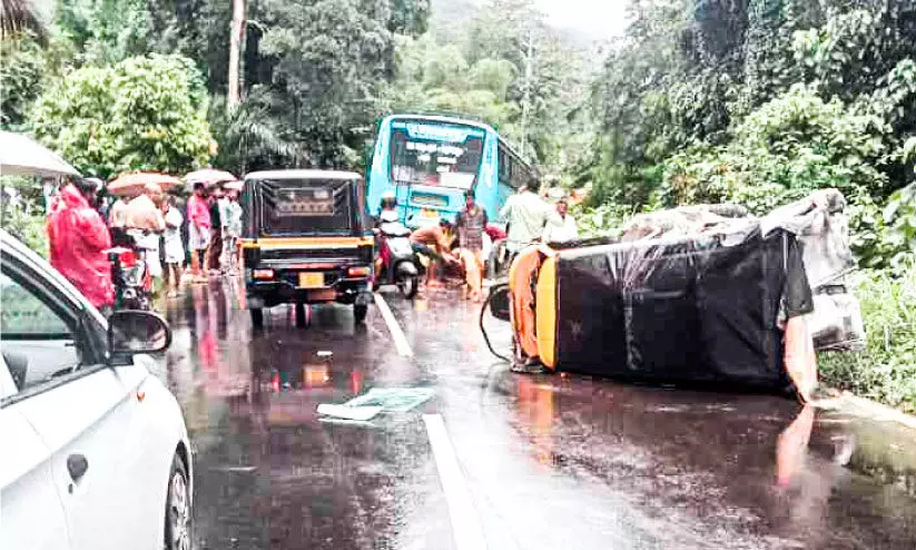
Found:
[[815, 348], [857, 350], [839, 191], [755, 217], [726, 205], [637, 216], [613, 237], [531, 247], [491, 294], [514, 362], [808, 399]]

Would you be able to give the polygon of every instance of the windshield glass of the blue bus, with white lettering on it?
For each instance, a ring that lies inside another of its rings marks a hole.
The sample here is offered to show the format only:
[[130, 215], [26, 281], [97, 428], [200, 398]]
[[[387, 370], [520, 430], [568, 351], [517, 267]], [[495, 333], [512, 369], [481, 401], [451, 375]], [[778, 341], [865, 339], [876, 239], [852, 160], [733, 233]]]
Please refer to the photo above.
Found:
[[[405, 125], [406, 126], [406, 125]], [[471, 189], [480, 170], [483, 136], [469, 132], [464, 141], [423, 139], [406, 127], [392, 128], [391, 178], [396, 185], [431, 185]]]

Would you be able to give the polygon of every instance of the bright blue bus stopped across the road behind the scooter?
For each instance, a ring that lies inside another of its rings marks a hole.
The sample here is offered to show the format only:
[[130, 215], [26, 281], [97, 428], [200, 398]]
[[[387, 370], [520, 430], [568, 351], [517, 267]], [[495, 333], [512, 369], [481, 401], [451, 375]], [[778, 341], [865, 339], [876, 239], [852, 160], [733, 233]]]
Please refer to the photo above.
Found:
[[368, 209], [395, 191], [408, 227], [454, 220], [473, 190], [496, 220], [505, 199], [535, 174], [490, 126], [462, 118], [392, 115], [378, 125], [368, 174]]

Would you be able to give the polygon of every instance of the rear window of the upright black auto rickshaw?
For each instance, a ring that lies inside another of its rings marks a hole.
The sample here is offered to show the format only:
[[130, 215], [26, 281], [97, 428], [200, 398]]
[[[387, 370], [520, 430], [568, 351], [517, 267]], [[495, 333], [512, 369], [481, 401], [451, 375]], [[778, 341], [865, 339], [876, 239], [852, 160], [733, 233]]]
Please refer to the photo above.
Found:
[[349, 233], [355, 218], [352, 185], [348, 179], [257, 181], [262, 234]]

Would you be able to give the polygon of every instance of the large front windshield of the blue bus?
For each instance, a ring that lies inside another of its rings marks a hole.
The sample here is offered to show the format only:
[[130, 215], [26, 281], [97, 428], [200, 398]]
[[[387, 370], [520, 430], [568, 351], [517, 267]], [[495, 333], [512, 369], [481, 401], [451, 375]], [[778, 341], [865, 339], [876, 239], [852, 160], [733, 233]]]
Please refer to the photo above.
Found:
[[483, 130], [398, 120], [392, 124], [391, 178], [396, 185], [471, 189], [480, 170]]

